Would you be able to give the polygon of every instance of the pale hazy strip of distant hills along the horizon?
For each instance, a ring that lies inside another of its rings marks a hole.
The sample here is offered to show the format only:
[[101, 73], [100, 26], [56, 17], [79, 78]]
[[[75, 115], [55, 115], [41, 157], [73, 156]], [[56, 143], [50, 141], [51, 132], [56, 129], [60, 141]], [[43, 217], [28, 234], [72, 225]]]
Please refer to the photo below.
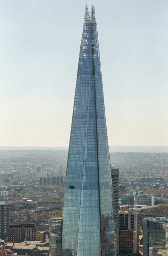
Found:
[[[0, 150], [68, 150], [68, 147], [1, 147]], [[168, 153], [168, 146], [109, 146], [114, 152]]]

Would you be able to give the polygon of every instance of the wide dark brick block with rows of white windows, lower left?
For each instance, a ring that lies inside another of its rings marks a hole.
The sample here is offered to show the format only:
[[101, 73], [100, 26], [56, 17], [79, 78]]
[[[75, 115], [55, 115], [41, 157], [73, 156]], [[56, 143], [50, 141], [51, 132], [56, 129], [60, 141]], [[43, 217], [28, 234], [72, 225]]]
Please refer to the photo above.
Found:
[[16, 243], [23, 242], [24, 239], [35, 240], [36, 227], [34, 224], [9, 224], [8, 227], [8, 242]]

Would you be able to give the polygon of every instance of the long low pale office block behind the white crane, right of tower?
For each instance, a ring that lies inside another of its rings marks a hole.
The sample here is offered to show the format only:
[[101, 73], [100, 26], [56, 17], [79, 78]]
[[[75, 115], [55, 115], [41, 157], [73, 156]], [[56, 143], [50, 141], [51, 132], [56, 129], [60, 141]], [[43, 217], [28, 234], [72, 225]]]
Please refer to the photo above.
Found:
[[[121, 195], [121, 204], [123, 205], [134, 205], [134, 196], [138, 193], [127, 193], [126, 195]], [[154, 205], [154, 196], [150, 194], [140, 194], [138, 196], [138, 204], [140, 205]]]

